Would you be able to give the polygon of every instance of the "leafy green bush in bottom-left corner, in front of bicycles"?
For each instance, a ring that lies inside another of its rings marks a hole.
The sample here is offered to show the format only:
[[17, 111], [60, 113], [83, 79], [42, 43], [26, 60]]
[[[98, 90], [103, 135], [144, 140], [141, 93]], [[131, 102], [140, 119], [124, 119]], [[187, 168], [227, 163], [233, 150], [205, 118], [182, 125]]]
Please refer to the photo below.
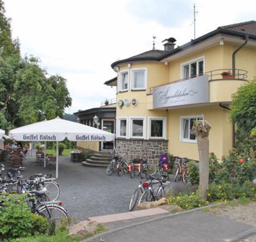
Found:
[[45, 232], [48, 221], [33, 215], [30, 211], [26, 196], [20, 194], [6, 194], [0, 197], [0, 237], [2, 240], [29, 237]]

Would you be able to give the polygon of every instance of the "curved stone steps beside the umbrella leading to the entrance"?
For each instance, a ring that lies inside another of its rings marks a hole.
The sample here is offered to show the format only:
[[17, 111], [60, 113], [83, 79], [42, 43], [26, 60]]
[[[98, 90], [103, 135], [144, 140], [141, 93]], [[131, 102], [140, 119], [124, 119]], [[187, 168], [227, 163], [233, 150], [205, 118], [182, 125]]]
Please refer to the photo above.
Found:
[[83, 161], [82, 164], [91, 167], [107, 167], [112, 158], [111, 152], [113, 152], [113, 150], [101, 150], [100, 152], [96, 152]]

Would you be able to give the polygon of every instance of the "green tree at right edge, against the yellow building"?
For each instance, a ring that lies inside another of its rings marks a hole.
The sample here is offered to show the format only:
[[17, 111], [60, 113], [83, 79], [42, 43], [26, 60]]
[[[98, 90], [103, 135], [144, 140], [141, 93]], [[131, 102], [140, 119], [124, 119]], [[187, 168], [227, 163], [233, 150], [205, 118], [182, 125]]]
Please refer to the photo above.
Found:
[[232, 95], [230, 118], [236, 124], [236, 148], [239, 153], [256, 153], [256, 136], [250, 136], [256, 126], [256, 78], [239, 87]]

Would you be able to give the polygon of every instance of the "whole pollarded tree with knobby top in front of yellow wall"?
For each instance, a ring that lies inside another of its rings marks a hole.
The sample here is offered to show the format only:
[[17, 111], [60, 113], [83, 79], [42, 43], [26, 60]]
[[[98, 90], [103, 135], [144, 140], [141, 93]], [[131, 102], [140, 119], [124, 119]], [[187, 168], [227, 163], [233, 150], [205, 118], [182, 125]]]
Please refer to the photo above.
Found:
[[209, 131], [211, 125], [206, 120], [193, 123], [192, 131], [196, 135], [199, 153], [199, 193], [202, 199], [207, 200], [209, 184]]

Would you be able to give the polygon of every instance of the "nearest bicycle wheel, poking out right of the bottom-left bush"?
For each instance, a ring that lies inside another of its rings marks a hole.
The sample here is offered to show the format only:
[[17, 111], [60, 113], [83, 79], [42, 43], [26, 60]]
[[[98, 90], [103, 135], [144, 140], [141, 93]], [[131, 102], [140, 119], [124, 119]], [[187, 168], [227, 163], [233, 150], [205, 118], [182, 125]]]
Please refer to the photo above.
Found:
[[55, 221], [56, 227], [60, 225], [62, 219], [67, 219], [67, 212], [61, 206], [55, 204], [42, 205], [37, 210], [36, 213], [42, 215], [48, 221]]

